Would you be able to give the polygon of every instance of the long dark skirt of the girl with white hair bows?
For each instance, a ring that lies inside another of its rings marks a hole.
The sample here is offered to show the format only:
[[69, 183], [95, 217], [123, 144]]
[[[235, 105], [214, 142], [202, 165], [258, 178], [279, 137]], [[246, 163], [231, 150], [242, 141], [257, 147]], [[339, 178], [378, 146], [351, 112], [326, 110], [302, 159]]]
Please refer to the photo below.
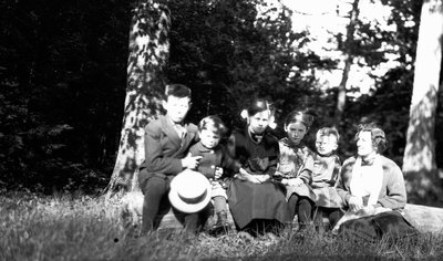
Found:
[[236, 226], [244, 229], [253, 220], [291, 221], [284, 190], [274, 182], [254, 184], [234, 179], [227, 195]]

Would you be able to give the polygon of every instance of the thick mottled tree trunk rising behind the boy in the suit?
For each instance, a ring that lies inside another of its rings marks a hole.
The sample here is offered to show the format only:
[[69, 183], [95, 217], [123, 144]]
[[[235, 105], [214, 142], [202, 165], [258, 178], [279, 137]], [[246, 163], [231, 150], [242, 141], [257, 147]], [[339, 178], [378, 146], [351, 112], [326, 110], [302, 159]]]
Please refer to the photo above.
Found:
[[107, 195], [117, 187], [138, 189], [136, 176], [144, 160], [144, 126], [161, 111], [169, 28], [169, 10], [165, 6], [138, 1], [133, 9], [123, 127]]

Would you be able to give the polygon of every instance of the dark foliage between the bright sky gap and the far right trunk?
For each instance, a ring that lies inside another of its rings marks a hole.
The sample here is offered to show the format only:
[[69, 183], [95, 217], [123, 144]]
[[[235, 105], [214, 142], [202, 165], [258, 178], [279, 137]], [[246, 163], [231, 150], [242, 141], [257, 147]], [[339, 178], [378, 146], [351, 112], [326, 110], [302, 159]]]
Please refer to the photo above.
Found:
[[[342, 117], [343, 139], [339, 150], [342, 155], [351, 156], [356, 150], [354, 144], [343, 140], [353, 137], [359, 123], [375, 122], [387, 132], [389, 140], [387, 156], [402, 166], [422, 1], [383, 0], [382, 4], [391, 10], [387, 21], [391, 30], [384, 31], [381, 28], [367, 30], [364, 33], [367, 36], [361, 39], [361, 42], [369, 46], [380, 46], [380, 44], [389, 46], [379, 52], [368, 52], [369, 55], [364, 58], [371, 66], [375, 67], [385, 58], [394, 58], [391, 60], [394, 66], [391, 65], [392, 67], [387, 73], [375, 77], [374, 87], [367, 94], [358, 98], [348, 96]], [[368, 29], [368, 27], [364, 28]], [[363, 49], [357, 45], [357, 50]], [[354, 88], [348, 90], [349, 93], [354, 91]]]

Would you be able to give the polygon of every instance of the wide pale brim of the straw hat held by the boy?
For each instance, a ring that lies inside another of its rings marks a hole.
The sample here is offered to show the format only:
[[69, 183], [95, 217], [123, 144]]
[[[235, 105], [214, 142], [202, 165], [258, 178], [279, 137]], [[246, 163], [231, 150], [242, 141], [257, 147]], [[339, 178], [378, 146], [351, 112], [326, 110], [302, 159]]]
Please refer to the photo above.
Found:
[[197, 202], [197, 203], [187, 203], [187, 202], [183, 201], [179, 198], [178, 192], [177, 192], [177, 187], [178, 187], [177, 184], [179, 184], [181, 182], [179, 180], [182, 179], [179, 177], [179, 175], [181, 174], [178, 174], [171, 181], [171, 190], [169, 190], [169, 194], [168, 194], [168, 198], [169, 198], [171, 205], [175, 209], [177, 209], [177, 210], [179, 210], [182, 212], [185, 212], [185, 213], [195, 213], [195, 212], [200, 211], [202, 209], [204, 209], [209, 203], [209, 200], [210, 200], [212, 185], [210, 185], [209, 180], [203, 174], [199, 174], [205, 179], [206, 195], [203, 198], [203, 200]]

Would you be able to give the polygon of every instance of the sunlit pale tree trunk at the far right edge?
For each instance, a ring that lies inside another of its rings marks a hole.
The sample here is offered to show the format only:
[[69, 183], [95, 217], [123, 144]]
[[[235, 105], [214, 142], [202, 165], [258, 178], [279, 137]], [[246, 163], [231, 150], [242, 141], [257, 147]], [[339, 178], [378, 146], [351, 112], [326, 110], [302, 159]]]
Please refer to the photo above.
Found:
[[435, 205], [442, 188], [435, 163], [435, 111], [442, 60], [443, 2], [423, 2], [403, 173], [411, 202]]

